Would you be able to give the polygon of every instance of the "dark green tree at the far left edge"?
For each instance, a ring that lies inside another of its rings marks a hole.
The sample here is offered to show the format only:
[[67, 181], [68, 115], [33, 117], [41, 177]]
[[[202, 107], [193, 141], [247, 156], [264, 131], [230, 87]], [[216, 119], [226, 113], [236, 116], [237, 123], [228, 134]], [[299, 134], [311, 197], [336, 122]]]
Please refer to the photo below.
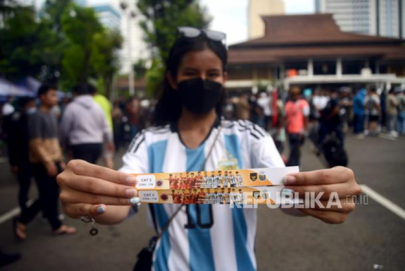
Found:
[[64, 36], [57, 27], [58, 13], [70, 0], [48, 0], [40, 14], [33, 6], [20, 6], [14, 0], [5, 2], [0, 3], [1, 76], [56, 81], [65, 46]]

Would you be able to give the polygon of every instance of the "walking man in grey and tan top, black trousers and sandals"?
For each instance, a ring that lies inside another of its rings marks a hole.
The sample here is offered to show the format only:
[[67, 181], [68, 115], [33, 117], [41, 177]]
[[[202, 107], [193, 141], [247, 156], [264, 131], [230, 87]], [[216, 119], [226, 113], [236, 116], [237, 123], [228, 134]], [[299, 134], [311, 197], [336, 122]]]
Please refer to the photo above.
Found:
[[56, 116], [51, 113], [58, 103], [56, 88], [41, 85], [38, 90], [40, 109], [28, 117], [29, 160], [32, 174], [37, 183], [40, 204], [28, 207], [16, 221], [16, 230], [25, 239], [25, 227], [42, 210], [49, 221], [54, 235], [75, 233], [76, 229], [62, 225], [58, 213], [59, 186], [56, 175], [64, 169], [62, 152], [58, 140]]

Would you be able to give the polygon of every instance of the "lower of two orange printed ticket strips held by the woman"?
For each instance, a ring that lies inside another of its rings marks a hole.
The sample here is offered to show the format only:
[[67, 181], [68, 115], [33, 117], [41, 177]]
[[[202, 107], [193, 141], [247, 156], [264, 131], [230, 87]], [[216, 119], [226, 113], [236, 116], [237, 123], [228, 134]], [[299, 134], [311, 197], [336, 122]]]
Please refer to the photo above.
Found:
[[302, 200], [283, 193], [284, 186], [256, 186], [232, 188], [194, 188], [173, 190], [141, 190], [138, 197], [143, 203], [173, 204], [283, 204]]

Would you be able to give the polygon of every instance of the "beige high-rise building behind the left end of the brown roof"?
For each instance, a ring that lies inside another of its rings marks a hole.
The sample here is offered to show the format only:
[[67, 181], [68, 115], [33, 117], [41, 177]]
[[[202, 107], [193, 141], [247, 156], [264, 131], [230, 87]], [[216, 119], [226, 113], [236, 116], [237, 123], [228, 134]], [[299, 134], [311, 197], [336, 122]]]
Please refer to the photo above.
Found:
[[264, 35], [262, 16], [281, 14], [284, 14], [283, 0], [249, 0], [249, 39], [260, 38]]

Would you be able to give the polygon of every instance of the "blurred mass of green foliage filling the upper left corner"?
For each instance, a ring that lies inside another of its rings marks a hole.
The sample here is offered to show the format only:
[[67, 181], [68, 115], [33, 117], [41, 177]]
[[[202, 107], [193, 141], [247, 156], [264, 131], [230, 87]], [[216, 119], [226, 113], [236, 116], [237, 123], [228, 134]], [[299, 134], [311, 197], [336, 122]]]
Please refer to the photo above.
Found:
[[93, 78], [109, 94], [122, 38], [103, 28], [93, 9], [46, 0], [36, 14], [33, 7], [0, 0], [0, 14], [1, 77], [59, 80], [66, 90]]

